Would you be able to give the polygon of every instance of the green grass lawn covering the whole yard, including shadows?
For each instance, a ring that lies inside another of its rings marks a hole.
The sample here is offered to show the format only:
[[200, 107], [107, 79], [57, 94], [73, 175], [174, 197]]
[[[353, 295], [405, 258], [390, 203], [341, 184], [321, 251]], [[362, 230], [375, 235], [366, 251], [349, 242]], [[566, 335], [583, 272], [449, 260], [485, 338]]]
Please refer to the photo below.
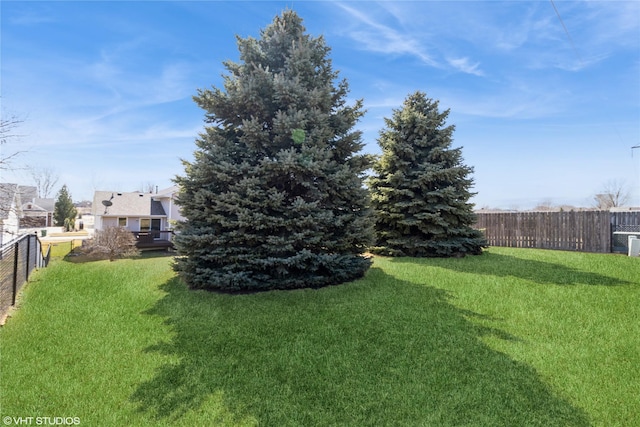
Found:
[[640, 425], [640, 260], [376, 258], [319, 290], [190, 291], [56, 260], [0, 330], [0, 415], [85, 426]]

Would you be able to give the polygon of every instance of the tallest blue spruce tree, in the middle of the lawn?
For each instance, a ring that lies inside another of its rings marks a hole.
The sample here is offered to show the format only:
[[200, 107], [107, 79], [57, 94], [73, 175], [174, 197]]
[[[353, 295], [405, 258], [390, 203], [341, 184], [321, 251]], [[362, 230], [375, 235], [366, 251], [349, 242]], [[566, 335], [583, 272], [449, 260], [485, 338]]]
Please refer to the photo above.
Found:
[[321, 287], [371, 264], [362, 101], [346, 104], [330, 49], [305, 31], [287, 10], [260, 39], [237, 37], [224, 88], [194, 97], [207, 126], [175, 179], [186, 218], [175, 269], [193, 288]]

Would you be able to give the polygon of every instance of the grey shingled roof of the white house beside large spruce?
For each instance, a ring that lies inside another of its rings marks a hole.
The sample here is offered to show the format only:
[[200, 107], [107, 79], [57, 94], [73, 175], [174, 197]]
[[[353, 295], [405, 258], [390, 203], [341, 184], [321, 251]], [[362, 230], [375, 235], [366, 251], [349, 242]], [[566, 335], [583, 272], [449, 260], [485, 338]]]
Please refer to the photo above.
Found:
[[93, 196], [95, 215], [101, 216], [166, 216], [162, 203], [150, 193], [118, 193], [96, 191]]

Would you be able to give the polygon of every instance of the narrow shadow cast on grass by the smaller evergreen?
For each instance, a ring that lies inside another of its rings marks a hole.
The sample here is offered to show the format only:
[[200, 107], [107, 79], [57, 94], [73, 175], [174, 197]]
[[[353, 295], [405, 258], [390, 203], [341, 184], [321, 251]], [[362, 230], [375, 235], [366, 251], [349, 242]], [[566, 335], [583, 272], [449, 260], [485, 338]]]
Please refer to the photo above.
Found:
[[460, 273], [498, 277], [517, 277], [539, 284], [620, 286], [631, 282], [616, 277], [584, 271], [567, 265], [518, 258], [511, 255], [484, 253], [466, 258], [394, 258], [393, 263], [425, 264]]

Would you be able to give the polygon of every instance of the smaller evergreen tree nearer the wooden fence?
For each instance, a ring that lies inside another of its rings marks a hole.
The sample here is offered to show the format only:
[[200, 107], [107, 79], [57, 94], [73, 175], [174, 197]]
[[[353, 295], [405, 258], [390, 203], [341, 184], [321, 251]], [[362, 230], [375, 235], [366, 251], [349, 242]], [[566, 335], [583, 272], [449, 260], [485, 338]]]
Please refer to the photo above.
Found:
[[382, 156], [369, 180], [375, 213], [373, 253], [450, 257], [480, 254], [487, 246], [469, 199], [473, 168], [451, 148], [449, 110], [423, 92], [410, 95], [380, 132]]

